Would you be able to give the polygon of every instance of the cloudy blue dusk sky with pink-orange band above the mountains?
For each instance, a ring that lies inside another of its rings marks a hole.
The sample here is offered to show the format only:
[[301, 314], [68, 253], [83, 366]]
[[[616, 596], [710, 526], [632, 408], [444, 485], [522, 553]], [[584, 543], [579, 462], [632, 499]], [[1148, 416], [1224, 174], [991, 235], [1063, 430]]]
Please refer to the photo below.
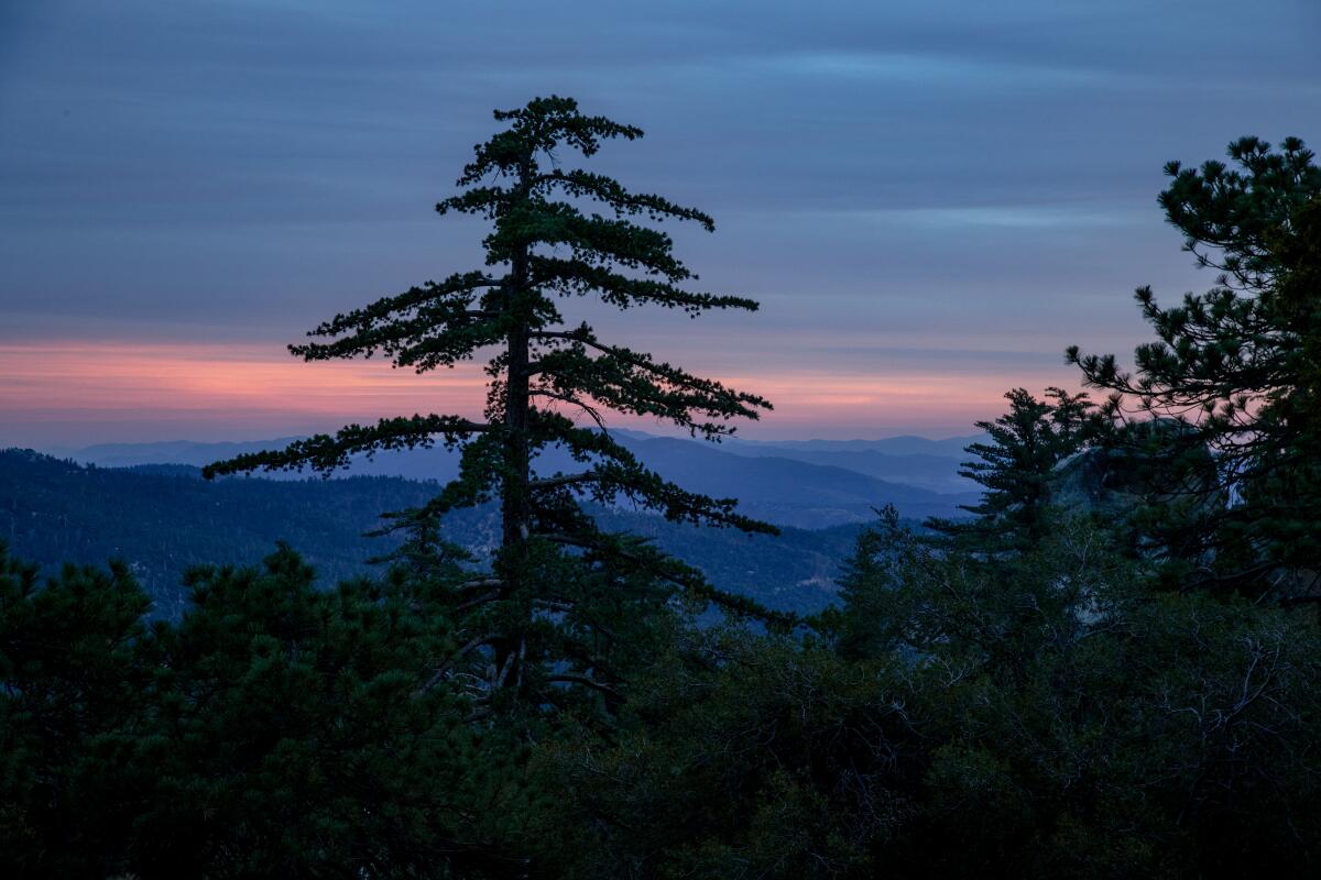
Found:
[[1317, 0], [0, 0], [0, 446], [480, 413], [477, 369], [284, 346], [478, 268], [433, 204], [548, 94], [642, 127], [593, 170], [715, 215], [679, 256], [762, 303], [571, 319], [769, 397], [749, 438], [968, 434], [1214, 281], [1161, 168], [1321, 144], [1318, 40]]

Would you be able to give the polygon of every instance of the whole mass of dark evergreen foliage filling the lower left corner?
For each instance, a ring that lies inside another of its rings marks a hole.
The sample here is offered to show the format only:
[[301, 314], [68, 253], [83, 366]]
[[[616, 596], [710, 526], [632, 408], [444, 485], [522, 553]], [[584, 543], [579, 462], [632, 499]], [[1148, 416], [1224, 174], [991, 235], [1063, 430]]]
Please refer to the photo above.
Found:
[[184, 620], [147, 628], [120, 567], [0, 571], [8, 876], [519, 869], [522, 752], [437, 674], [444, 591], [320, 591], [281, 549], [196, 570]]

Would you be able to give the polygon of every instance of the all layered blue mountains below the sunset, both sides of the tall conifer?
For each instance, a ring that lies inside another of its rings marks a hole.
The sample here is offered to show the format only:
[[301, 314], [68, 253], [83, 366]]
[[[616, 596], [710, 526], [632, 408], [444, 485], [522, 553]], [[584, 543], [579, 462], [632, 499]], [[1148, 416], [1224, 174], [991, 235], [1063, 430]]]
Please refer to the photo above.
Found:
[[[976, 500], [958, 476], [962, 449], [979, 438], [929, 441], [750, 442], [720, 445], [616, 431], [647, 466], [679, 486], [740, 499], [740, 509], [782, 526], [778, 537], [676, 525], [647, 513], [598, 508], [612, 530], [653, 538], [723, 588], [771, 607], [815, 611], [835, 595], [839, 565], [876, 509], [901, 516], [959, 516]], [[157, 602], [177, 615], [181, 578], [198, 563], [260, 561], [285, 541], [328, 581], [369, 570], [396, 538], [366, 538], [379, 515], [413, 507], [457, 474], [443, 449], [359, 456], [339, 479], [308, 475], [229, 478], [207, 483], [199, 467], [291, 439], [248, 443], [104, 443], [53, 458], [0, 451], [0, 540], [42, 566], [129, 562]], [[580, 470], [561, 450], [538, 462], [542, 474]], [[477, 551], [494, 546], [493, 509], [458, 512], [446, 537]]]

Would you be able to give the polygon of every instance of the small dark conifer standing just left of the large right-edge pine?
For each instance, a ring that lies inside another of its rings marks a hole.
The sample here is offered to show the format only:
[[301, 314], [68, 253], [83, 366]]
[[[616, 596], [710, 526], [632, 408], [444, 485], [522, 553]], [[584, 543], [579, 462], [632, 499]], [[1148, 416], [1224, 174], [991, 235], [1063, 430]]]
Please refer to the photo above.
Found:
[[976, 424], [991, 441], [968, 446], [966, 451], [976, 460], [959, 471], [984, 488], [978, 504], [963, 507], [974, 519], [926, 522], [963, 549], [993, 553], [1037, 546], [1052, 521], [1055, 467], [1083, 443], [1091, 410], [1086, 394], [1048, 388], [1045, 400], [1037, 400], [1015, 388], [1005, 400], [1008, 413]]

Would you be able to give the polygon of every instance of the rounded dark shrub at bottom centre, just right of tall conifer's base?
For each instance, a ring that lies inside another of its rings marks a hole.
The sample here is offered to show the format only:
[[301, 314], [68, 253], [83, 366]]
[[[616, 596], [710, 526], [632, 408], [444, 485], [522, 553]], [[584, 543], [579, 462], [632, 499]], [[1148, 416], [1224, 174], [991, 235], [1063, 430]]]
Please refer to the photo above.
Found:
[[911, 803], [897, 677], [823, 645], [690, 635], [617, 741], [540, 749], [539, 860], [564, 877], [865, 876]]

